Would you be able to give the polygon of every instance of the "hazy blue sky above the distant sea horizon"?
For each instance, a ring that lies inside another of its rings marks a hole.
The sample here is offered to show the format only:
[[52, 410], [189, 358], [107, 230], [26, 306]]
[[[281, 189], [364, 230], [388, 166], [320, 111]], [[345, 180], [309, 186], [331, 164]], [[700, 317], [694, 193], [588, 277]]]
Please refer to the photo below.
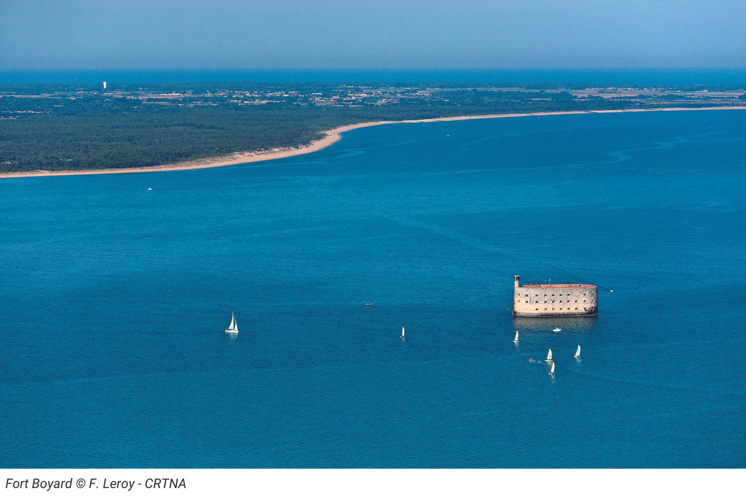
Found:
[[1, 69], [746, 67], [746, 1], [3, 0]]

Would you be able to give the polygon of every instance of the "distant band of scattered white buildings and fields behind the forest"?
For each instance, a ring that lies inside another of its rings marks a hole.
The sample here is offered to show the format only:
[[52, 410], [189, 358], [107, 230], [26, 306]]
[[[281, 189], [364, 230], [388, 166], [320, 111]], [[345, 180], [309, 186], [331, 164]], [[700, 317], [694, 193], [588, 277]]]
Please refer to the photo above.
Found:
[[[94, 89], [91, 85], [80, 88], [59, 88], [56, 91], [44, 91], [46, 88], [34, 86], [0, 86], [0, 98], [44, 98], [74, 101], [81, 99], [97, 104], [117, 101], [137, 101], [142, 105], [164, 106], [218, 106], [224, 105], [266, 105], [292, 104], [301, 106], [333, 107], [380, 107], [391, 105], [419, 106], [474, 106], [497, 102], [530, 104], [536, 101], [568, 101], [605, 99], [607, 101], [626, 101], [633, 104], [651, 104], [655, 102], [677, 102], [680, 104], [718, 104], [733, 105], [744, 100], [746, 88], [742, 87], [706, 87], [706, 86], [673, 86], [673, 87], [588, 87], [573, 88], [546, 83], [546, 88], [526, 86], [459, 86], [448, 83], [448, 86], [376, 86], [369, 85], [329, 85], [313, 83], [288, 84], [286, 87], [261, 85], [257, 83], [225, 83], [225, 86], [251, 86], [249, 89], [220, 88], [219, 83], [209, 83], [207, 89], [172, 89], [165, 92], [161, 86], [175, 85], [113, 85], [109, 89]], [[205, 86], [204, 83], [182, 83], [178, 86]], [[262, 88], [262, 86], [267, 86]], [[294, 87], [295, 86], [295, 87]], [[297, 86], [305, 86], [298, 89]], [[554, 87], [552, 87], [554, 86]], [[575, 85], [577, 86], [577, 85]], [[7, 101], [5, 101], [7, 103]], [[27, 106], [39, 107], [39, 106]], [[54, 107], [63, 107], [55, 105]], [[139, 106], [127, 105], [137, 108]], [[41, 113], [38, 109], [3, 109], [7, 114]], [[54, 108], [46, 112], [54, 112]]]

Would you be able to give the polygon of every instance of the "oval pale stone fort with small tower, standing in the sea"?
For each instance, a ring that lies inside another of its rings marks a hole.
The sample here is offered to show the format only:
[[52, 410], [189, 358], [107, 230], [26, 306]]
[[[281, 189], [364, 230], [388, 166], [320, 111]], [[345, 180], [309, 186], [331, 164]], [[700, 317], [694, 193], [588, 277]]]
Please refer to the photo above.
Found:
[[598, 315], [598, 287], [565, 283], [563, 285], [519, 285], [521, 276], [513, 276], [513, 316], [560, 317]]

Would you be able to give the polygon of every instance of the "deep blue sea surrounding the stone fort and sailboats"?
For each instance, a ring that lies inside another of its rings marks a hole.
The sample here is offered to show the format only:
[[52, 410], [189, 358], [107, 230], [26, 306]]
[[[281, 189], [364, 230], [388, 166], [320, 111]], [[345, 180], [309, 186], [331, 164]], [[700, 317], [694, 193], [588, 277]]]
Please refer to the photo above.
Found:
[[743, 110], [0, 179], [0, 467], [743, 467], [745, 180]]

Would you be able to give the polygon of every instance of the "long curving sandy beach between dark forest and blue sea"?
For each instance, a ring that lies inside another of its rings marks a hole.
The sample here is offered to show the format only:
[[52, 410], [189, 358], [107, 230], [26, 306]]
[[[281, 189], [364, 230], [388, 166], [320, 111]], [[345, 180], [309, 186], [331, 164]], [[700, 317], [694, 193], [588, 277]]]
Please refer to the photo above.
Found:
[[507, 117], [526, 117], [530, 115], [564, 115], [564, 114], [608, 114], [608, 113], [643, 113], [643, 112], [668, 112], [674, 110], [744, 110], [746, 106], [739, 107], [665, 107], [656, 109], [619, 109], [619, 110], [567, 110], [554, 113], [524, 113], [524, 114], [489, 114], [489, 115], [461, 115], [457, 117], [432, 118], [432, 119], [410, 119], [407, 121], [371, 121], [346, 126], [335, 127], [325, 131], [324, 138], [311, 142], [310, 145], [301, 145], [298, 148], [273, 148], [269, 151], [236, 152], [225, 156], [206, 157], [204, 159], [178, 162], [168, 165], [154, 165], [140, 168], [118, 168], [118, 169], [88, 169], [84, 171], [25, 171], [17, 173], [0, 173], [0, 178], [39, 177], [39, 176], [77, 176], [80, 174], [126, 174], [126, 173], [151, 173], [160, 171], [186, 171], [188, 169], [219, 168], [224, 165], [247, 164], [248, 162], [260, 162], [272, 159], [282, 159], [320, 151], [342, 139], [341, 133], [354, 130], [359, 127], [377, 126], [379, 124], [417, 123], [417, 122], [443, 122], [443, 121], [466, 121], [468, 119], [495, 119]]

